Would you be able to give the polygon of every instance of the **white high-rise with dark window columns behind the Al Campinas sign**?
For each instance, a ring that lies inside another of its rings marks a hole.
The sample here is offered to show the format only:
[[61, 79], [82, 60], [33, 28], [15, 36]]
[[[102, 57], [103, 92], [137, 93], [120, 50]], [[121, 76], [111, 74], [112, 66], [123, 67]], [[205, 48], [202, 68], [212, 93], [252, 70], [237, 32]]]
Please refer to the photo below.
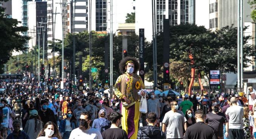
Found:
[[[135, 32], [144, 28], [147, 41], [152, 40], [152, 0], [136, 0]], [[194, 23], [194, 0], [155, 0], [157, 32], [163, 31], [163, 19], [170, 25]], [[189, 8], [193, 8], [190, 10]]]

